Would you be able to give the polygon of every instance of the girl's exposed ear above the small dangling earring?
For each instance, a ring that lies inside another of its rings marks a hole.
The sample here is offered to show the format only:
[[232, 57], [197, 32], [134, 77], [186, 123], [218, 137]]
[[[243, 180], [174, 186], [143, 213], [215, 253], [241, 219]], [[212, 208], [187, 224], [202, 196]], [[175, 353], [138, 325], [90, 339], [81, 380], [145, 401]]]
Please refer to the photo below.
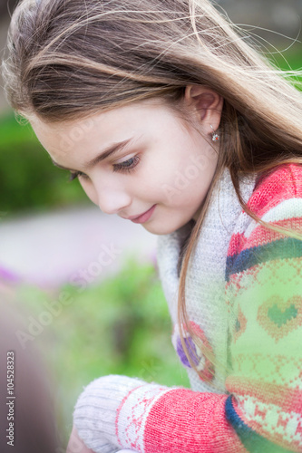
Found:
[[223, 98], [217, 92], [204, 85], [188, 85], [184, 103], [193, 118], [203, 126], [205, 133], [219, 129]]

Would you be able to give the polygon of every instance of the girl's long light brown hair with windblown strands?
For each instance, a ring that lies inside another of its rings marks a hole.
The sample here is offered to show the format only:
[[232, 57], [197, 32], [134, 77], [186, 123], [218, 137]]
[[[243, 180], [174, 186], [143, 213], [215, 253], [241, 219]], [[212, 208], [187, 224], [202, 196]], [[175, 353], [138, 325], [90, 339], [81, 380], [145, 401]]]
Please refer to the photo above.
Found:
[[186, 274], [222, 170], [259, 220], [240, 196], [240, 176], [302, 157], [297, 72], [268, 63], [247, 38], [209, 0], [23, 0], [9, 30], [5, 91], [27, 118], [76, 120], [154, 97], [177, 108], [189, 84], [223, 97], [219, 162], [180, 272], [179, 320], [189, 331]]

